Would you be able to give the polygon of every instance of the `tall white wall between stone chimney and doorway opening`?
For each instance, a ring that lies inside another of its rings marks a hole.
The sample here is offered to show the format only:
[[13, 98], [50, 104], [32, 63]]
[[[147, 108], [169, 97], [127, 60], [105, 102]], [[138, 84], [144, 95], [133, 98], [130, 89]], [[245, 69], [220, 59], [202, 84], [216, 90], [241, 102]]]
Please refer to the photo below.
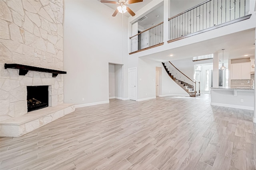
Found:
[[122, 15], [112, 17], [114, 10], [99, 1], [64, 2], [64, 101], [80, 106], [108, 102], [108, 63], [123, 64], [128, 56], [122, 48], [128, 47], [127, 18], [122, 27]]

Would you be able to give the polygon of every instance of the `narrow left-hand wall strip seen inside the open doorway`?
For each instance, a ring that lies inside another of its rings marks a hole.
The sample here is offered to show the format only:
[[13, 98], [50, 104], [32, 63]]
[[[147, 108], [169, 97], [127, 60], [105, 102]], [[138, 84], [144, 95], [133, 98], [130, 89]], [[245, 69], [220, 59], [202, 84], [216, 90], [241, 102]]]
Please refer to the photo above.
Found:
[[108, 64], [108, 94], [109, 98], [115, 97], [115, 64]]

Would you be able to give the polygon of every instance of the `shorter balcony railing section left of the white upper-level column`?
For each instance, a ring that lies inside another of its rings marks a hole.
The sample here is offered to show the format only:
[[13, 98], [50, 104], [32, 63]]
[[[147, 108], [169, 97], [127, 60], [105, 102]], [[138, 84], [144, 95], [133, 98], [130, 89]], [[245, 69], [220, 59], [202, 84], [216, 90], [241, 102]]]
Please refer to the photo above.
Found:
[[130, 54], [150, 49], [163, 44], [163, 26], [161, 22], [130, 37]]

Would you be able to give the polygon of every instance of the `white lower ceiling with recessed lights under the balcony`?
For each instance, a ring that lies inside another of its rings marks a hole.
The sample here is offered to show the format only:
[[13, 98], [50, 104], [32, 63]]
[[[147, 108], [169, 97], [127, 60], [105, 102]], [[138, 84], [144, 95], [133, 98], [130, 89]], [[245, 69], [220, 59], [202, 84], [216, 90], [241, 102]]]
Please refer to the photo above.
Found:
[[[212, 53], [220, 53], [222, 56], [222, 50], [224, 50], [224, 63], [228, 62], [228, 59], [242, 59], [254, 57], [255, 53], [255, 29], [249, 29], [232, 33], [222, 37], [216, 37], [208, 39], [199, 43], [193, 43], [190, 45], [161, 51], [159, 53], [150, 54], [146, 59], [154, 61], [174, 61], [180, 59], [192, 58], [200, 55], [207, 55]], [[170, 55], [173, 55], [170, 57]], [[244, 56], [248, 55], [248, 56]], [[196, 63], [195, 63], [196, 64]]]

